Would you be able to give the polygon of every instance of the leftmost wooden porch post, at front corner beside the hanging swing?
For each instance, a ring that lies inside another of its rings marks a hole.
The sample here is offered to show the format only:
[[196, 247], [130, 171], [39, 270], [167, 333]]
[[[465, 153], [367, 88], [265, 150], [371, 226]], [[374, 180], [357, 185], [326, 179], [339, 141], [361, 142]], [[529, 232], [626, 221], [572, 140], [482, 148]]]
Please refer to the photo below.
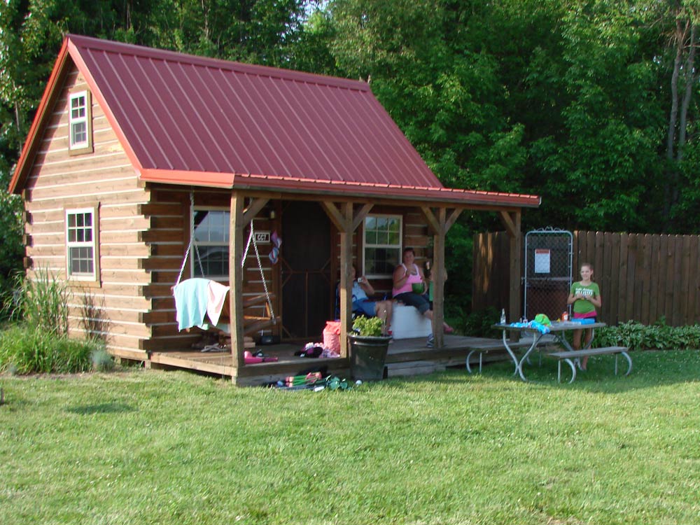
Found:
[[[238, 375], [245, 365], [244, 334], [243, 334], [243, 229], [250, 222], [244, 216], [245, 196], [236, 190], [231, 192], [229, 250], [228, 250], [228, 282], [231, 287], [228, 294], [231, 318], [231, 357], [233, 367]], [[248, 208], [250, 209], [250, 208]], [[237, 377], [232, 377], [234, 382]]]

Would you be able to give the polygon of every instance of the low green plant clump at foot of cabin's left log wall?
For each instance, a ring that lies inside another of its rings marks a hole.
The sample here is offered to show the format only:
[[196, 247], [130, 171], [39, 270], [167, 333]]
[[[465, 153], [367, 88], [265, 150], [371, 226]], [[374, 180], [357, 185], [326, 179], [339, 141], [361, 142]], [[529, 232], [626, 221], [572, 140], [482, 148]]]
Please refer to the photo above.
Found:
[[74, 373], [92, 369], [92, 353], [104, 350], [94, 341], [57, 336], [32, 325], [0, 332], [0, 372]]

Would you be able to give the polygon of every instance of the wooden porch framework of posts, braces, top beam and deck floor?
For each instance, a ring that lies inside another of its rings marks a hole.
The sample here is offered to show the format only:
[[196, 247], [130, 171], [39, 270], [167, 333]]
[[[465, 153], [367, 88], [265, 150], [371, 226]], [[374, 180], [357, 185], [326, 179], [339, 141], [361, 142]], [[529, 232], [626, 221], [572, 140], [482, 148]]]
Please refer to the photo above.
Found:
[[[437, 189], [437, 188], [436, 188]], [[358, 192], [361, 191], [358, 188]], [[335, 192], [334, 192], [335, 193]], [[289, 195], [285, 195], [286, 198]], [[396, 195], [377, 195], [377, 188], [367, 191], [367, 195], [348, 197], [346, 189], [336, 195], [328, 193], [315, 195], [314, 202], [321, 205], [328, 215], [338, 235], [338, 268], [339, 268], [339, 319], [341, 323], [340, 360], [330, 360], [329, 372], [342, 374], [349, 363], [349, 345], [347, 334], [351, 330], [351, 303], [352, 281], [351, 267], [353, 265], [353, 234], [360, 228], [363, 221], [376, 206], [401, 207], [402, 209], [416, 209], [424, 218], [430, 234], [433, 253], [433, 335], [435, 348], [426, 348], [424, 338], [400, 339], [393, 342], [387, 358], [387, 373], [391, 370], [409, 369], [421, 372], [432, 372], [444, 369], [446, 366], [464, 365], [466, 355], [478, 344], [491, 344], [493, 349], [498, 349], [502, 344], [498, 340], [483, 340], [472, 337], [460, 337], [456, 335], [444, 335], [444, 246], [445, 235], [458, 216], [464, 210], [479, 210], [496, 212], [500, 216], [505, 228], [510, 235], [514, 249], [512, 253], [519, 253], [517, 249], [521, 244], [520, 219], [521, 207], [531, 205], [532, 197], [509, 194], [479, 194], [472, 192], [459, 192], [452, 195], [451, 190], [440, 188], [434, 193], [430, 188], [421, 188], [418, 195], [407, 195], [405, 192], [397, 192]], [[421, 198], [423, 197], [423, 198]], [[271, 199], [279, 198], [278, 194], [258, 191], [232, 190], [230, 199], [230, 320], [231, 320], [231, 353], [230, 356], [202, 356], [197, 352], [151, 353], [151, 363], [157, 365], [171, 365], [194, 370], [202, 370], [216, 374], [228, 375], [236, 384], [249, 385], [261, 384], [273, 381], [275, 377], [285, 377], [294, 374], [301, 365], [310, 365], [309, 359], [296, 358], [293, 350], [278, 349], [279, 361], [277, 363], [256, 363], [246, 365], [244, 363], [244, 337], [246, 329], [244, 325], [244, 276], [241, 260], [244, 259], [244, 244], [246, 241], [246, 228], [258, 213], [265, 209]], [[297, 195], [298, 199], [309, 199]], [[429, 200], [426, 200], [429, 199]], [[521, 261], [517, 258], [511, 261], [511, 302], [508, 307], [509, 318], [517, 318], [521, 312], [519, 297]], [[284, 311], [281, 316], [284, 317]], [[320, 328], [320, 327], [319, 327]], [[273, 353], [272, 355], [276, 355]], [[403, 364], [401, 364], [403, 363]], [[412, 364], [409, 364], [412, 363]], [[324, 363], [325, 364], [325, 363]], [[261, 372], [263, 371], [264, 372]], [[416, 372], [418, 373], [418, 372]], [[266, 378], [269, 381], [266, 381]]]

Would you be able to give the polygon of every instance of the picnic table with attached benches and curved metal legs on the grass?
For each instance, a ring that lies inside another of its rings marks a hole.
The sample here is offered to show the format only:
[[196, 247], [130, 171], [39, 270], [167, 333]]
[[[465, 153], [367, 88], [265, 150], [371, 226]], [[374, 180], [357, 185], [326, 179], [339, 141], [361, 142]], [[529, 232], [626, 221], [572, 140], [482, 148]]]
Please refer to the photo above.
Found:
[[[595, 329], [596, 328], [603, 328], [605, 326], [605, 323], [577, 323], [575, 321], [555, 321], [551, 325], [547, 326], [549, 329], [547, 332], [540, 332], [536, 328], [533, 328], [531, 325], [527, 325], [526, 323], [511, 323], [511, 324], [501, 324], [498, 323], [496, 325], [493, 325], [493, 328], [498, 328], [500, 330], [503, 330], [503, 346], [505, 346], [505, 350], [508, 352], [510, 357], [513, 360], [513, 363], [515, 365], [515, 372], [514, 374], [519, 374], [520, 379], [523, 381], [527, 381], [527, 378], [525, 377], [525, 373], [523, 372], [523, 365], [524, 363], [528, 362], [528, 358], [530, 357], [530, 354], [533, 353], [536, 349], [542, 350], [540, 348], [540, 344], [549, 344], [552, 342], [561, 344], [561, 346], [566, 349], [564, 352], [555, 352], [555, 353], [550, 353], [550, 355], [559, 358], [559, 378], [561, 379], [561, 360], [565, 360], [571, 367], [572, 370], [572, 378], [571, 381], [576, 378], [576, 368], [574, 365], [574, 360], [578, 358], [579, 356], [584, 356], [584, 355], [600, 355], [602, 353], [615, 353], [616, 354], [616, 359], [617, 359], [617, 353], [622, 353], [627, 360], [629, 361], [629, 370], [627, 370], [627, 374], [629, 374], [632, 363], [631, 359], [629, 358], [629, 355], [626, 353], [626, 348], [621, 347], [621, 346], [615, 346], [615, 347], [606, 347], [606, 348], [601, 348], [601, 349], [591, 349], [591, 344], [593, 343], [593, 337], [591, 337], [591, 341], [587, 346], [584, 346], [581, 350], [575, 351], [569, 342], [566, 340], [566, 332], [568, 330], [583, 330], [583, 329], [588, 329], [591, 328], [593, 330], [593, 335], [595, 336]], [[532, 334], [532, 344], [529, 346], [529, 348], [525, 351], [523, 356], [518, 359], [517, 356], [515, 356], [515, 353], [513, 352], [512, 348], [510, 347], [510, 344], [508, 344], [506, 332], [520, 332], [521, 334]], [[545, 337], [549, 335], [550, 337]], [[615, 373], [617, 374], [617, 360], [615, 361]]]

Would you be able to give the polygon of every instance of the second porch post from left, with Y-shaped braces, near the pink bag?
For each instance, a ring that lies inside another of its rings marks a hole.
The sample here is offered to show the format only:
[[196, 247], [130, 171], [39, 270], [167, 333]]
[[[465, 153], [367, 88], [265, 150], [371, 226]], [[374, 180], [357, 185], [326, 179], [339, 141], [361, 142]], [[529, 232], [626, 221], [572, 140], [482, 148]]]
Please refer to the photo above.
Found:
[[322, 201], [321, 205], [340, 233], [340, 355], [347, 357], [352, 314], [352, 235], [370, 213], [372, 204], [365, 204], [357, 213], [353, 211], [352, 202], [343, 202], [337, 207], [334, 202]]

